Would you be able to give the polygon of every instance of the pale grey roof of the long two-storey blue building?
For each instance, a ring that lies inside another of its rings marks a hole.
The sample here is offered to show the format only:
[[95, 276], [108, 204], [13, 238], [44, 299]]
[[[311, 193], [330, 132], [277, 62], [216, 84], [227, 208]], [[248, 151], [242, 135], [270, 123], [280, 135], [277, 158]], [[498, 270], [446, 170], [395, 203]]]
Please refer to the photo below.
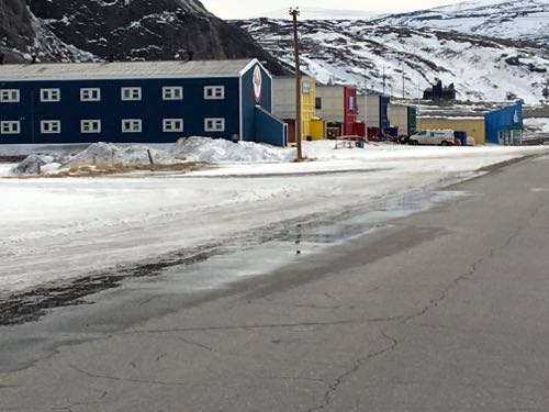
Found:
[[43, 79], [119, 79], [119, 78], [193, 78], [238, 77], [257, 59], [169, 60], [114, 63], [48, 63], [0, 65], [0, 81]]

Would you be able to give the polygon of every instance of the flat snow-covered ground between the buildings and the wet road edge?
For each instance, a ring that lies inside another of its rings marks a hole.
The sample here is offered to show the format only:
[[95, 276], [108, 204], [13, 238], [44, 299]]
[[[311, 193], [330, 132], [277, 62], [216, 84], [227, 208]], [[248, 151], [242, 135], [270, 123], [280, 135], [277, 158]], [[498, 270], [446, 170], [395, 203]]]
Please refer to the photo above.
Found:
[[189, 175], [0, 179], [0, 296], [367, 204], [544, 151], [333, 147], [306, 143], [305, 154], [317, 159], [311, 163], [233, 163]]

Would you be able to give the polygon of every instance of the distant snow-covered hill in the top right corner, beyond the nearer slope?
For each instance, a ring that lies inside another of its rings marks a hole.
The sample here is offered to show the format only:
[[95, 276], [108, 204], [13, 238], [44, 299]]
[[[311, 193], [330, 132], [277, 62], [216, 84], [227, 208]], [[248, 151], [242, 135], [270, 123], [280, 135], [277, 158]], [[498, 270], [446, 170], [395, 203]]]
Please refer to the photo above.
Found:
[[549, 0], [474, 0], [377, 18], [390, 26], [434, 27], [549, 46]]

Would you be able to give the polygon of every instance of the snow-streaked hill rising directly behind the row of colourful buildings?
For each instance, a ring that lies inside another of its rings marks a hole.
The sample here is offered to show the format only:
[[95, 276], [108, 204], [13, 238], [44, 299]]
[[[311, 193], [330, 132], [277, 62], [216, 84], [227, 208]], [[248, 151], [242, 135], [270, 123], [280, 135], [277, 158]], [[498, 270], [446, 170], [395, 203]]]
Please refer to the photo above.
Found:
[[[236, 22], [282, 63], [293, 64], [288, 20]], [[318, 81], [417, 98], [436, 78], [460, 100], [549, 101], [549, 49], [535, 44], [368, 21], [300, 22], [303, 70]]]

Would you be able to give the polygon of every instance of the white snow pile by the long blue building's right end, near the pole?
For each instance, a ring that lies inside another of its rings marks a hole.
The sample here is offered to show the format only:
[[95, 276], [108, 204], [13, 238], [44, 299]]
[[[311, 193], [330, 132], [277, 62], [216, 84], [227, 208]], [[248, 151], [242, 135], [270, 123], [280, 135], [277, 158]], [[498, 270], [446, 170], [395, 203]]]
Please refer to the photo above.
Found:
[[210, 137], [180, 138], [171, 153], [177, 158], [205, 163], [279, 163], [292, 157], [292, 152], [284, 148]]

